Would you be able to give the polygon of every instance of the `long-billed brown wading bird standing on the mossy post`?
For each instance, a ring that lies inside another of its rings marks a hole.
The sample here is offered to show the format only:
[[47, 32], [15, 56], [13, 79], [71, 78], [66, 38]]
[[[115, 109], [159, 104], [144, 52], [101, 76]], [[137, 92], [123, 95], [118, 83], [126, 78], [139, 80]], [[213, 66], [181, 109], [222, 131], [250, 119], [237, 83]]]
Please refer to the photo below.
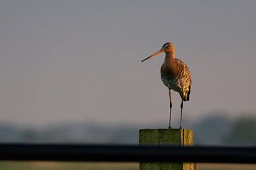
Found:
[[181, 119], [179, 128], [182, 129], [182, 109], [183, 101], [189, 101], [189, 96], [191, 94], [191, 73], [188, 66], [175, 56], [174, 43], [166, 42], [160, 50], [154, 54], [146, 57], [142, 62], [148, 60], [151, 57], [165, 53], [164, 63], [161, 65], [160, 73], [161, 80], [169, 91], [169, 101], [170, 101], [170, 117], [169, 117], [169, 129], [171, 129], [171, 90], [178, 92], [181, 96]]

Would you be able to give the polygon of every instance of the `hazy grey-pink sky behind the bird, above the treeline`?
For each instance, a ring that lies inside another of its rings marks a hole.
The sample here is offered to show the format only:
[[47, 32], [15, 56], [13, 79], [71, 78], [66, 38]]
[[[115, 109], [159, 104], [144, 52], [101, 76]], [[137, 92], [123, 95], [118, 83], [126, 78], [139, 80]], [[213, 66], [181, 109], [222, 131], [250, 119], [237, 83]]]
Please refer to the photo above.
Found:
[[[192, 74], [184, 119], [256, 113], [256, 1], [0, 1], [0, 122], [167, 126], [164, 42]], [[172, 93], [174, 118], [180, 97]]]

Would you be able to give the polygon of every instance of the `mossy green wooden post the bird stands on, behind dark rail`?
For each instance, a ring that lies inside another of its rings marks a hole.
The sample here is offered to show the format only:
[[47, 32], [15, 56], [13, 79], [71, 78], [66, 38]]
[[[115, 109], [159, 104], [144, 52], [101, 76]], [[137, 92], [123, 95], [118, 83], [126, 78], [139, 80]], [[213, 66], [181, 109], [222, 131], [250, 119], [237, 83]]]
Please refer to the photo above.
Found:
[[[193, 145], [193, 130], [143, 129], [139, 130], [139, 145]], [[140, 162], [140, 170], [195, 170], [194, 163]]]

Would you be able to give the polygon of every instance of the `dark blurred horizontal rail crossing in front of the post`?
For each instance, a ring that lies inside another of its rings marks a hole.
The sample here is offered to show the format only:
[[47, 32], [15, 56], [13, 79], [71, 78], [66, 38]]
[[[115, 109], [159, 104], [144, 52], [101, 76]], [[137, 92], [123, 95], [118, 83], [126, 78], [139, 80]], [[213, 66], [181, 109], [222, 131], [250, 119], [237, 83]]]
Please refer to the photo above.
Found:
[[0, 160], [256, 163], [256, 147], [0, 144]]

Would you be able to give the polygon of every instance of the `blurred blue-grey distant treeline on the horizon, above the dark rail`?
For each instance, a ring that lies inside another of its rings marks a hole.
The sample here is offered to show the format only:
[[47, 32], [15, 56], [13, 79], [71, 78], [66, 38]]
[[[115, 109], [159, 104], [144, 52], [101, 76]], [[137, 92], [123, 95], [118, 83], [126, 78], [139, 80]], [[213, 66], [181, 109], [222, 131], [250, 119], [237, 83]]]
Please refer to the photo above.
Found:
[[[254, 116], [229, 119], [223, 114], [211, 115], [189, 125], [194, 131], [195, 145], [256, 145]], [[145, 127], [147, 126], [71, 123], [24, 128], [1, 123], [0, 142], [138, 144], [138, 131]]]

